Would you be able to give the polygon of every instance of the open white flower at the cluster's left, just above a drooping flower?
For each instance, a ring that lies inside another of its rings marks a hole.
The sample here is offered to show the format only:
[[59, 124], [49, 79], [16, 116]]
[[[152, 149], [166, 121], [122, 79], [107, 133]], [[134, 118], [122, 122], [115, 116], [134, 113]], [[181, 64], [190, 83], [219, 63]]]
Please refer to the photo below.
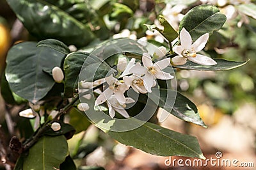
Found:
[[122, 81], [118, 81], [113, 75], [106, 77], [106, 81], [109, 85], [105, 91], [103, 91], [95, 101], [95, 105], [100, 105], [108, 100], [111, 95], [115, 94], [116, 99], [120, 104], [125, 103], [124, 92], [129, 89], [129, 86]]

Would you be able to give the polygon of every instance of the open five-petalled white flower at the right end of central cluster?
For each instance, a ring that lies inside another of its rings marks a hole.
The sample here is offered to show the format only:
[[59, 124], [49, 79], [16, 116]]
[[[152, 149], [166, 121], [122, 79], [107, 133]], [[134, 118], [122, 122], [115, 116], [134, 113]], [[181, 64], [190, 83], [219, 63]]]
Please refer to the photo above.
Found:
[[143, 53], [142, 63], [144, 66], [137, 63], [131, 68], [130, 72], [138, 76], [145, 74], [143, 77], [143, 83], [149, 93], [151, 93], [151, 88], [154, 86], [154, 79], [173, 79], [173, 76], [170, 75], [170, 73], [162, 71], [170, 65], [170, 58], [162, 59], [153, 64], [150, 55], [148, 53]]

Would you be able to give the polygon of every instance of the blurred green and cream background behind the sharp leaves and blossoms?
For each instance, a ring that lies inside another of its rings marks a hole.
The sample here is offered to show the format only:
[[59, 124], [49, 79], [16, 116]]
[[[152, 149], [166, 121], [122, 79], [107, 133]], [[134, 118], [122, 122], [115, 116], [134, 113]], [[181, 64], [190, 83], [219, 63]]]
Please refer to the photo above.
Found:
[[[91, 23], [93, 31], [96, 29], [100, 40], [106, 40], [109, 37], [142, 38], [157, 46], [164, 43], [163, 37], [156, 32], [147, 31], [147, 27], [143, 24], [157, 25], [157, 15], [161, 14], [169, 19], [171, 24], [173, 23], [172, 26], [175, 29], [178, 29], [182, 15], [193, 6], [204, 3], [218, 6], [221, 12], [227, 15], [228, 20], [220, 31], [210, 36], [205, 54], [212, 58], [234, 61], [250, 59], [250, 61], [234, 70], [220, 72], [177, 70], [177, 88], [198, 106], [200, 116], [208, 128], [186, 123], [172, 115], [168, 116], [162, 125], [177, 132], [196, 136], [206, 158], [216, 158], [216, 152], [220, 151], [222, 158], [254, 164], [254, 167], [236, 167], [236, 169], [256, 168], [256, 10], [248, 14], [239, 11], [240, 8], [237, 7], [239, 4], [250, 3], [250, 1], [225, 1], [226, 3], [223, 1], [184, 1], [182, 4], [171, 0], [123, 0], [100, 1], [100, 3], [88, 0], [84, 2], [95, 9], [91, 11], [91, 14], [99, 15], [104, 23], [101, 23], [102, 25]], [[88, 22], [88, 19], [86, 20], [85, 22]], [[28, 40], [37, 41], [38, 38], [28, 33], [16, 19], [6, 1], [1, 0], [1, 82], [4, 79], [8, 49], [14, 43]], [[12, 114], [5, 114], [6, 108], [10, 110], [10, 107], [12, 107]], [[16, 107], [22, 107], [22, 105]], [[162, 110], [159, 111], [161, 112]], [[6, 121], [12, 121], [15, 124], [19, 122], [19, 118], [15, 114], [15, 107], [6, 103], [0, 96], [1, 125], [6, 126], [8, 124]], [[7, 129], [9, 134], [6, 136], [10, 138], [15, 133], [15, 129], [12, 127]], [[235, 167], [214, 166], [165, 166], [164, 160], [168, 157], [150, 155], [116, 143], [92, 125], [86, 131], [81, 131], [69, 139], [68, 146], [70, 154], [76, 158], [76, 164], [102, 166], [106, 169], [235, 169]], [[186, 159], [184, 157], [172, 158]]]

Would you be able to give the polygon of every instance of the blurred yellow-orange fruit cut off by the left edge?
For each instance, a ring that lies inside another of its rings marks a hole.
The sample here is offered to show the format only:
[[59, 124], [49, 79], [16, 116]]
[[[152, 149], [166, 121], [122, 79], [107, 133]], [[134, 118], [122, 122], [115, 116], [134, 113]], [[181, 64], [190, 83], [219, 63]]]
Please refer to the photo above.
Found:
[[[6, 53], [10, 47], [10, 29], [0, 22], [0, 73], [3, 72]], [[1, 76], [1, 74], [0, 74]]]

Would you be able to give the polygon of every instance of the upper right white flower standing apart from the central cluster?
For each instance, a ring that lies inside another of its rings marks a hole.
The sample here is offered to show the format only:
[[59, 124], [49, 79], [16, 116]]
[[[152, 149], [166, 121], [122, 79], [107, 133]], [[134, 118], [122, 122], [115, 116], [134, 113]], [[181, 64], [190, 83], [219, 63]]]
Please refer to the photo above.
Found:
[[185, 28], [182, 28], [180, 31], [180, 44], [173, 47], [173, 51], [176, 52], [179, 56], [172, 58], [173, 65], [180, 65], [186, 63], [186, 59], [197, 63], [198, 65], [216, 65], [216, 61], [207, 56], [201, 54], [196, 54], [200, 50], [204, 49], [205, 44], [209, 38], [209, 34], [206, 33], [200, 36], [193, 44], [192, 38], [189, 35], [189, 32]]

